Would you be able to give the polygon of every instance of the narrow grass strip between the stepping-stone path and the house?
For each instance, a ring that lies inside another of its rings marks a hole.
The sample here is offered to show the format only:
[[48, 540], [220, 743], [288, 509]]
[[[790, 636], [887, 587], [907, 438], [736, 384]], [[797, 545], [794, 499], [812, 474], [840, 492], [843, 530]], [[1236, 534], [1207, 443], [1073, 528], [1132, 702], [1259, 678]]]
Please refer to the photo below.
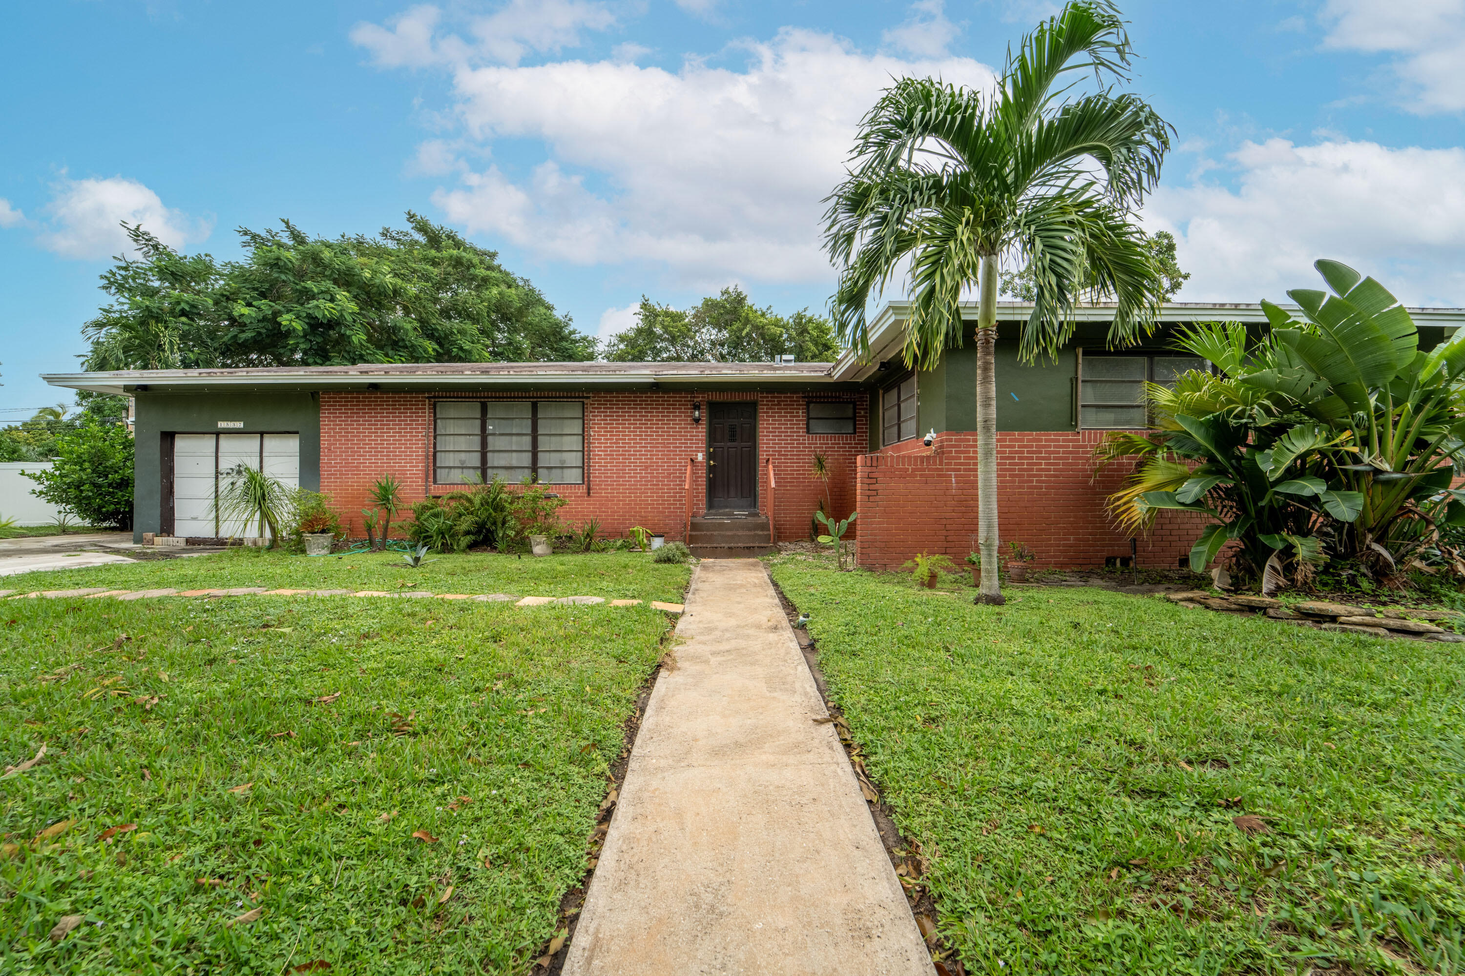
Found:
[[113, 563], [0, 577], [0, 590], [177, 590], [271, 587], [284, 590], [428, 590], [429, 593], [511, 593], [514, 596], [593, 596], [681, 600], [687, 568], [653, 563], [646, 553], [524, 556], [429, 556], [420, 569], [400, 553], [290, 556], [264, 549], [227, 549], [207, 556]]

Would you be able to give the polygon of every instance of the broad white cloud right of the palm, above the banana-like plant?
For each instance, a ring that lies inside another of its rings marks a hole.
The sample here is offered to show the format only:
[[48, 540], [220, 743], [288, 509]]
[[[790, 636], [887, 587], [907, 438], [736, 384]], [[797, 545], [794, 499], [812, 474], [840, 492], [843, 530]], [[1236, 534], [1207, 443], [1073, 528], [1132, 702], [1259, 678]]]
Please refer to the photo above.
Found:
[[1409, 304], [1465, 304], [1465, 149], [1270, 139], [1231, 165], [1235, 190], [1162, 187], [1146, 206], [1194, 275], [1179, 300], [1280, 300], [1321, 287], [1313, 262], [1335, 258]]

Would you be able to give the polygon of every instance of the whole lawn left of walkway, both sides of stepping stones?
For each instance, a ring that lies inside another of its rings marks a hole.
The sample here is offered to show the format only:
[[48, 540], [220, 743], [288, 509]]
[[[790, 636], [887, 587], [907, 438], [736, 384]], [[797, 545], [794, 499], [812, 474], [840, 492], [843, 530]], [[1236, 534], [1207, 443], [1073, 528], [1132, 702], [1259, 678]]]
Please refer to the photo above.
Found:
[[[675, 600], [687, 579], [631, 556], [388, 562], [229, 553], [9, 582]], [[0, 754], [47, 748], [0, 778], [0, 972], [526, 973], [668, 628], [646, 606], [0, 604]]]

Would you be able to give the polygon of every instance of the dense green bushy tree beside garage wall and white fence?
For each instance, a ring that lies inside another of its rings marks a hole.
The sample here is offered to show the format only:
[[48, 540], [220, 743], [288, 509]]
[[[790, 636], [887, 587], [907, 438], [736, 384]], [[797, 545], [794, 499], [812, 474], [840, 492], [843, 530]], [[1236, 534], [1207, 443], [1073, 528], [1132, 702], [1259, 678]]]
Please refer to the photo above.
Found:
[[132, 446], [125, 424], [88, 423], [57, 440], [50, 471], [25, 471], [31, 493], [88, 525], [132, 528]]

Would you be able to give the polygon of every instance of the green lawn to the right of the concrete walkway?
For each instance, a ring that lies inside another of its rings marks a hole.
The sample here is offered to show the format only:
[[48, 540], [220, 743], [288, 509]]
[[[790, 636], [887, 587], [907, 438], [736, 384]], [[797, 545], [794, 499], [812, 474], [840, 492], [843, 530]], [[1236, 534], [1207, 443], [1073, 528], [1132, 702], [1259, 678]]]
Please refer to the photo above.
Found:
[[1465, 964], [1459, 645], [772, 571], [970, 972]]

